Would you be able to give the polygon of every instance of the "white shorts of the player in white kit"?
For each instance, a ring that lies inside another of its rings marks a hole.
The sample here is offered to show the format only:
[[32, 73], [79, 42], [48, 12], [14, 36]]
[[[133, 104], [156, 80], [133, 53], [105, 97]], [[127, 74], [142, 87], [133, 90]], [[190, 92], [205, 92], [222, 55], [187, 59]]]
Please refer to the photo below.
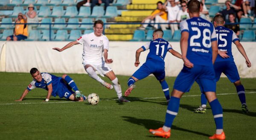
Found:
[[105, 63], [105, 61], [102, 61], [100, 63], [92, 63], [92, 62], [83, 62], [83, 65], [91, 65], [95, 70], [99, 72], [99, 75], [104, 77], [104, 75], [108, 72], [110, 72], [112, 69]]

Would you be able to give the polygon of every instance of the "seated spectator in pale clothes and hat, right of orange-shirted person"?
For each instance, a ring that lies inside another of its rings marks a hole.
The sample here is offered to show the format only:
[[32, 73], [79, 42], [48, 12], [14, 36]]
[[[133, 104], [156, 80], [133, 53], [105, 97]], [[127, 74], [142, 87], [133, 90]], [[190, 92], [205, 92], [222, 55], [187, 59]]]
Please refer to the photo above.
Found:
[[[27, 22], [28, 23], [38, 23], [38, 15], [36, 11], [34, 10], [34, 5], [29, 4], [28, 6], [29, 11], [26, 13]], [[37, 27], [38, 25], [27, 25], [28, 26], [28, 32], [32, 30], [32, 28]]]

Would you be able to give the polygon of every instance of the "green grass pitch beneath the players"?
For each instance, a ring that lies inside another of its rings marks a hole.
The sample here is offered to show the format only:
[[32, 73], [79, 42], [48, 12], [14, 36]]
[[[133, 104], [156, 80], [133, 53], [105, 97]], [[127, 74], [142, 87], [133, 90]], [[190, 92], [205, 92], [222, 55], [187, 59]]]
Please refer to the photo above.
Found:
[[[56, 74], [61, 76], [61, 74]], [[87, 102], [71, 102], [65, 98], [51, 97], [45, 100], [47, 91], [35, 89], [22, 102], [23, 90], [32, 81], [29, 73], [0, 73], [0, 140], [28, 139], [104, 139], [104, 140], [149, 140], [160, 139], [148, 133], [148, 129], [163, 126], [166, 99], [159, 82], [147, 77], [136, 82], [127, 98], [130, 103], [121, 103], [116, 92], [108, 90], [85, 74], [69, 74], [82, 94], [97, 93], [98, 105]], [[127, 89], [128, 76], [117, 76], [122, 91]], [[109, 82], [107, 78], [104, 78]], [[166, 77], [170, 92], [174, 77]], [[256, 78], [242, 78], [249, 113], [241, 112], [236, 88], [227, 78], [217, 83], [217, 95], [223, 107], [224, 131], [230, 140], [255, 139], [256, 131]], [[191, 96], [195, 95], [195, 96]], [[160, 98], [157, 98], [160, 97]], [[52, 104], [51, 104], [52, 103]], [[180, 109], [172, 126], [174, 140], [206, 140], [215, 133], [212, 112], [207, 104], [206, 114], [196, 114], [200, 105], [200, 90], [194, 84], [180, 101]]]

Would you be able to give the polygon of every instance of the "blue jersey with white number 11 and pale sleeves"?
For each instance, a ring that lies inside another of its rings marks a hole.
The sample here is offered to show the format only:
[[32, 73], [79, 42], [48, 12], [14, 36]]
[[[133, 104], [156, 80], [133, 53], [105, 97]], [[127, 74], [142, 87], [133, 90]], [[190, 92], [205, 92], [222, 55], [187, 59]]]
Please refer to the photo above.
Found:
[[168, 41], [158, 38], [143, 45], [142, 48], [144, 51], [149, 49], [147, 60], [154, 59], [154, 60], [164, 62], [166, 53], [170, 49], [172, 49], [172, 46], [169, 44]]

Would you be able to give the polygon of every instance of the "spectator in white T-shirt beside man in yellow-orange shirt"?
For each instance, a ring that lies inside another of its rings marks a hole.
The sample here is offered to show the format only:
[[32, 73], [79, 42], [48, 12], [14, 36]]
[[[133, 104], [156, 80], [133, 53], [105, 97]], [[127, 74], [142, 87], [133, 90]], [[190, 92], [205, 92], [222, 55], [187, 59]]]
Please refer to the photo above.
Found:
[[[168, 2], [171, 3], [171, 6], [166, 6]], [[173, 34], [175, 30], [178, 30], [178, 25], [175, 23], [177, 23], [177, 15], [178, 15], [178, 12], [180, 11], [180, 7], [176, 5], [175, 0], [168, 0], [166, 1], [166, 3], [164, 3], [164, 8], [168, 12], [168, 22], [174, 23], [174, 24], [170, 24], [172, 34]]]

